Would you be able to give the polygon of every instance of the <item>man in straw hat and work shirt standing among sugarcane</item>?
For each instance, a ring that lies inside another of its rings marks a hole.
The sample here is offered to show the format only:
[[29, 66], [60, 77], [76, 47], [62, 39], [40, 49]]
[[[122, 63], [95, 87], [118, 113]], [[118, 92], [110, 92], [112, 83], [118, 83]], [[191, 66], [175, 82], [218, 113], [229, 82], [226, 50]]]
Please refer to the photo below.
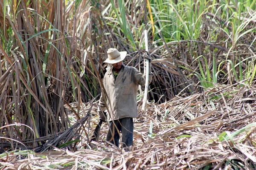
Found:
[[[122, 147], [129, 148], [133, 145], [133, 118], [138, 116], [137, 92], [139, 85], [145, 85], [145, 60], [149, 60], [149, 83], [152, 80], [151, 57], [148, 52], [143, 54], [144, 74], [136, 68], [125, 66], [122, 60], [125, 59], [126, 51], [117, 51], [116, 48], [109, 48], [108, 59], [104, 62], [111, 64], [110, 69], [105, 73], [103, 85], [106, 94], [103, 93], [99, 99], [99, 119], [109, 122], [109, 130], [106, 137], [108, 142], [119, 147], [120, 132], [122, 132]], [[108, 109], [108, 115], [105, 110]]]

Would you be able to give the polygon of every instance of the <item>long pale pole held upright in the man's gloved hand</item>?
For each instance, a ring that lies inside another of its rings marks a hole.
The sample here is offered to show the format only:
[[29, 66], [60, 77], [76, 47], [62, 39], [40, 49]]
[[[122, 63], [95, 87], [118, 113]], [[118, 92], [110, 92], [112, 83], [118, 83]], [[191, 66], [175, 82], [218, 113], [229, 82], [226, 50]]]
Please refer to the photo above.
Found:
[[[145, 37], [145, 50], [148, 52], [148, 31], [144, 31], [144, 37]], [[149, 72], [149, 62], [148, 59], [146, 59], [146, 79], [145, 79], [145, 91], [144, 91], [144, 98], [143, 98], [143, 104], [142, 104], [142, 109], [141, 111], [144, 113], [145, 111], [145, 106], [148, 98], [148, 73]]]

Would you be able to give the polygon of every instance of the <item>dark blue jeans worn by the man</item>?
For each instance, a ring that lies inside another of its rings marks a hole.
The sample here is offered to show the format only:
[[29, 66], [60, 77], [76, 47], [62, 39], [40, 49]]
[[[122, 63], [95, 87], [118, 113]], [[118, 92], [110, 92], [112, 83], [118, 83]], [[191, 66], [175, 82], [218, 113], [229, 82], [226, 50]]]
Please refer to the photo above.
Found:
[[[116, 127], [114, 126], [116, 125]], [[122, 147], [129, 147], [133, 145], [133, 130], [134, 123], [133, 118], [125, 117], [122, 119], [114, 120], [109, 122], [109, 130], [106, 137], [108, 142], [119, 147], [120, 131], [122, 132]], [[112, 137], [113, 133], [113, 137]]]

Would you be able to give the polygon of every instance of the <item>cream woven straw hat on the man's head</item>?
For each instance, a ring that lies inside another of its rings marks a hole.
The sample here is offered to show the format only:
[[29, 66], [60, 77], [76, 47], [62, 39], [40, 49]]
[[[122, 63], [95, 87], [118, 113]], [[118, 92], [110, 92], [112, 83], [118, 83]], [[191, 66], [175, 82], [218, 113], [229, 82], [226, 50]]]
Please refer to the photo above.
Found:
[[117, 62], [122, 61], [125, 59], [127, 52], [126, 51], [117, 51], [116, 48], [109, 48], [108, 51], [108, 58], [104, 61], [109, 64], [115, 64]]

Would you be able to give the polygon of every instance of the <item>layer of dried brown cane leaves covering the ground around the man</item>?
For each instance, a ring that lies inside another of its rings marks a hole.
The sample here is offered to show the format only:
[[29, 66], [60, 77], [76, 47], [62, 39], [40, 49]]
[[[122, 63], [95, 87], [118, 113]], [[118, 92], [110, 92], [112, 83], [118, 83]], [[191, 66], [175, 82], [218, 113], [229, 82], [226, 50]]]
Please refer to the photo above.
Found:
[[255, 91], [254, 85], [218, 85], [203, 94], [176, 96], [162, 104], [149, 102], [147, 112], [134, 120], [134, 148], [129, 152], [107, 146], [106, 124], [101, 141], [94, 142], [93, 149], [87, 147], [87, 136], [90, 139], [98, 121], [95, 105], [91, 128], [86, 125], [87, 136], [83, 133], [77, 151], [55, 149], [25, 159], [8, 155], [1, 158], [2, 169], [186, 170], [208, 166], [217, 170], [232, 169], [227, 163], [232, 160], [251, 169], [256, 165]]

